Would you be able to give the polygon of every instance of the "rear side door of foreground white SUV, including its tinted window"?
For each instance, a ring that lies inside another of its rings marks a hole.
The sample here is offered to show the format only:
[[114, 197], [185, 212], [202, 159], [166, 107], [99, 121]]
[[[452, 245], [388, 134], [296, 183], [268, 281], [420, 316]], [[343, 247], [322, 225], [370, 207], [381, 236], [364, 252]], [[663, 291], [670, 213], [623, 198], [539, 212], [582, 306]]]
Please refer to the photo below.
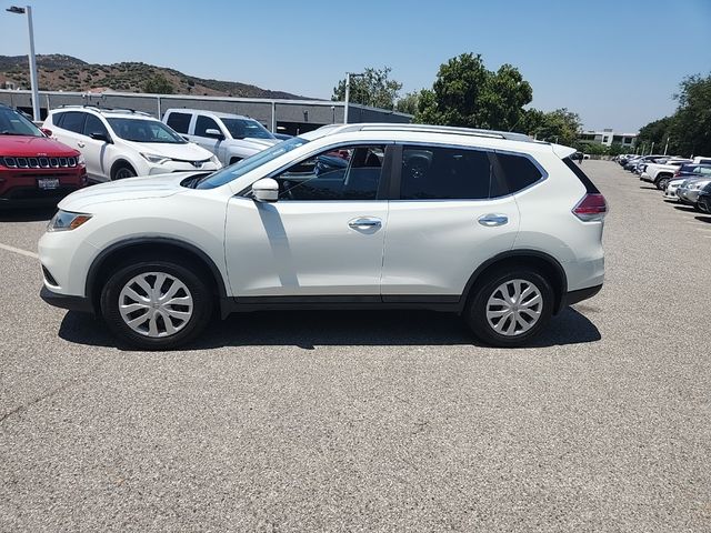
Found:
[[[399, 148], [400, 149], [400, 148]], [[519, 210], [502, 193], [494, 154], [445, 145], [401, 147], [382, 272], [383, 301], [459, 299], [473, 271], [510, 250]], [[494, 198], [500, 197], [500, 198]]]

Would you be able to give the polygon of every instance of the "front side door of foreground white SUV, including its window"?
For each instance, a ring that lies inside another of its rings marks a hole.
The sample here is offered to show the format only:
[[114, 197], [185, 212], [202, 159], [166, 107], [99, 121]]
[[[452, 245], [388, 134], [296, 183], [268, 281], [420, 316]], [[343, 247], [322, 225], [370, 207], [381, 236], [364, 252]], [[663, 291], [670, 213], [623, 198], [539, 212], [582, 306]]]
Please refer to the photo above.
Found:
[[238, 301], [380, 301], [388, 158], [382, 143], [339, 147], [272, 175], [277, 202], [257, 202], [249, 192], [233, 197], [226, 257]]

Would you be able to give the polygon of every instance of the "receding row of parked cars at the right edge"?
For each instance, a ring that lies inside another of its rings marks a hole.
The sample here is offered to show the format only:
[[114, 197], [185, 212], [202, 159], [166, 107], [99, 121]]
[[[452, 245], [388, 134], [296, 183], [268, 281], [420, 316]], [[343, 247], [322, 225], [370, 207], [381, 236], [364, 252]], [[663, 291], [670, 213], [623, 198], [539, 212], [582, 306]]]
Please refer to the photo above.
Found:
[[665, 200], [691, 205], [711, 213], [711, 158], [683, 159], [667, 155], [620, 157], [618, 162], [639, 174], [640, 180], [654, 183]]

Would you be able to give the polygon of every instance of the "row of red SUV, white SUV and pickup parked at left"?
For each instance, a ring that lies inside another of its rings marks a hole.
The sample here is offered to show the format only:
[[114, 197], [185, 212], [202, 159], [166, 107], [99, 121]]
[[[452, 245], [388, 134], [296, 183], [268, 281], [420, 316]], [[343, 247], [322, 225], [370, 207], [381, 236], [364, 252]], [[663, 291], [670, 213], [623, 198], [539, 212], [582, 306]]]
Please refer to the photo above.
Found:
[[0, 105], [0, 207], [56, 203], [88, 182], [212, 172], [282, 140], [248, 117], [192, 109], [169, 109], [160, 121], [70, 105], [51, 110], [40, 129]]

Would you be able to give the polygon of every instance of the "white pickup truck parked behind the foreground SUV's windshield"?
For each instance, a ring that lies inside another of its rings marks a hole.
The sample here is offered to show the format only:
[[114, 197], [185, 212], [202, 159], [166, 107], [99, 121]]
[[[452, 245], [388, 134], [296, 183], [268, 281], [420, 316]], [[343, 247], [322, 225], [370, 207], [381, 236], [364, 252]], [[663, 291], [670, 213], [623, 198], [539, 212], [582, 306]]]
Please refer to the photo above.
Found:
[[163, 122], [184, 139], [214, 153], [224, 165], [281, 142], [254, 119], [239, 114], [169, 109], [163, 114]]

